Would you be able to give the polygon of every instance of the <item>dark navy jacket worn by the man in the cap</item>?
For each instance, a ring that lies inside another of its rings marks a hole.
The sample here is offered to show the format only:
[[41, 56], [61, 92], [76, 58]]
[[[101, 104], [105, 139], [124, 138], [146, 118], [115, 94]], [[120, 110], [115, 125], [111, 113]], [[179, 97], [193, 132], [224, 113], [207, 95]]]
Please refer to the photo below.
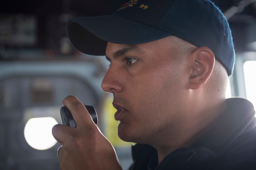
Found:
[[[132, 147], [130, 170], [250, 169], [256, 170], [256, 118], [251, 102], [227, 99], [228, 111], [188, 148], [168, 154], [158, 165], [157, 151], [150, 145]], [[157, 166], [158, 165], [158, 166]]]

